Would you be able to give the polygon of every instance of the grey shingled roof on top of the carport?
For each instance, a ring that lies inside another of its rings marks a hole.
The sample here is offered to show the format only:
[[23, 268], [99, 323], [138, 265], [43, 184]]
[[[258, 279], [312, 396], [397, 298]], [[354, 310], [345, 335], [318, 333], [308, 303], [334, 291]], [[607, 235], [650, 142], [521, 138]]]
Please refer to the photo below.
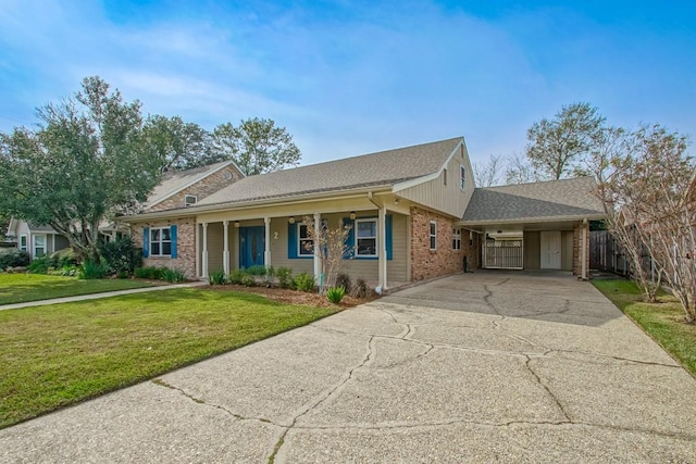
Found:
[[465, 224], [599, 218], [601, 202], [594, 177], [477, 188], [467, 206]]

